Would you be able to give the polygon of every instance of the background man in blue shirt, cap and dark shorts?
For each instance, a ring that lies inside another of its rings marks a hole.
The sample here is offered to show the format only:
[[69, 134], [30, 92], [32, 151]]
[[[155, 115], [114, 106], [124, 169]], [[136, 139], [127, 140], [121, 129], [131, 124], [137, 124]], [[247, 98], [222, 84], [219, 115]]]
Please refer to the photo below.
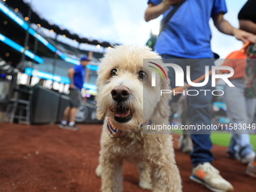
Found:
[[[59, 124], [59, 128], [66, 130], [79, 130], [79, 128], [75, 126], [75, 114], [81, 105], [81, 89], [84, 85], [84, 68], [89, 62], [90, 59], [88, 59], [87, 56], [83, 56], [79, 66], [75, 66], [72, 69], [69, 69], [69, 106], [64, 111], [61, 124]], [[67, 124], [68, 117], [69, 125]]]

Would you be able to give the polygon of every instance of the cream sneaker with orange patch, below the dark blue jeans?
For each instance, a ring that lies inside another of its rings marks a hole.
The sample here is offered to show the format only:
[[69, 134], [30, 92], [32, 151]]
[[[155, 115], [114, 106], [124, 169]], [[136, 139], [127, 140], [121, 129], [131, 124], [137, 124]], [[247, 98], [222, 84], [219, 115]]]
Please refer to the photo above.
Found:
[[214, 192], [233, 192], [233, 186], [221, 177], [220, 172], [211, 163], [199, 164], [190, 175], [192, 181], [203, 184]]

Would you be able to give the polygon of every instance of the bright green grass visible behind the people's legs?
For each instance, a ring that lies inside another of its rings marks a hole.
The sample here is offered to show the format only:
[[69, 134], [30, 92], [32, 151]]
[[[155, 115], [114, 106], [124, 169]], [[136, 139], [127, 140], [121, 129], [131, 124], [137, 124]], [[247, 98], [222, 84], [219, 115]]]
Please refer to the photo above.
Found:
[[[172, 133], [181, 135], [182, 130], [173, 130]], [[227, 147], [230, 143], [230, 133], [224, 133], [223, 131], [212, 131], [211, 139], [213, 144]], [[253, 146], [254, 151], [256, 151], [256, 135], [251, 135], [250, 139], [251, 145]]]

